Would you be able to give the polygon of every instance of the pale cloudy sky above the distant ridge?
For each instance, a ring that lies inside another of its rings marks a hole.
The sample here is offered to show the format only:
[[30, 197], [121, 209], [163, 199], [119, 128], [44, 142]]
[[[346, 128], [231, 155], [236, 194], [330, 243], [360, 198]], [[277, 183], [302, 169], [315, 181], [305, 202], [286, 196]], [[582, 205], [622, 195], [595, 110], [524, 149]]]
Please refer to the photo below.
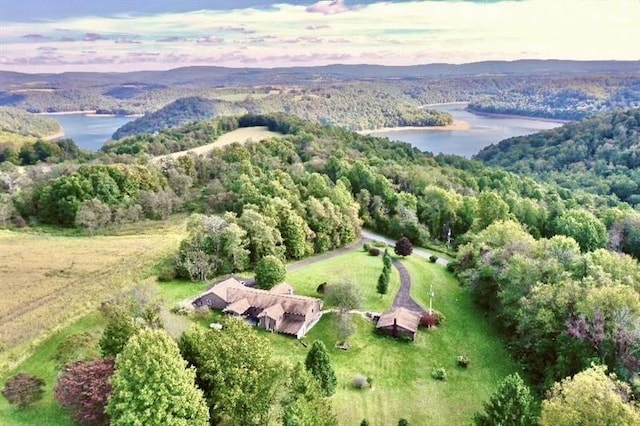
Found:
[[640, 0], [1, 0], [0, 70], [640, 60]]

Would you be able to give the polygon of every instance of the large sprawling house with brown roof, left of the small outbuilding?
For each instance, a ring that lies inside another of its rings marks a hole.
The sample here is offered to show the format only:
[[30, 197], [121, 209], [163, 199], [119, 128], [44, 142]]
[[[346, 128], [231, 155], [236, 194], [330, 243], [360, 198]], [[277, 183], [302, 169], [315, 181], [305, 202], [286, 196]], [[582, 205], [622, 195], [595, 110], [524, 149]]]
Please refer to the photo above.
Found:
[[198, 296], [193, 305], [219, 309], [258, 327], [298, 339], [304, 337], [322, 315], [320, 299], [294, 295], [289, 284], [279, 284], [267, 291], [245, 287], [235, 278], [214, 285]]

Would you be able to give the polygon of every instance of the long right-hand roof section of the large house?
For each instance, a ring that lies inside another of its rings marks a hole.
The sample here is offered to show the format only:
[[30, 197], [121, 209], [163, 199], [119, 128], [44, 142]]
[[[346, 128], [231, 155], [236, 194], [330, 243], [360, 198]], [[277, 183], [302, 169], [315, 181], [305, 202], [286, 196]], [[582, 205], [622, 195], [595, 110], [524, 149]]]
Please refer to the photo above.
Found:
[[275, 294], [248, 287], [227, 289], [227, 302], [234, 303], [242, 298], [246, 298], [254, 308], [266, 309], [273, 305], [281, 305], [284, 312], [297, 315], [306, 315], [313, 305], [320, 303], [319, 299], [313, 297]]

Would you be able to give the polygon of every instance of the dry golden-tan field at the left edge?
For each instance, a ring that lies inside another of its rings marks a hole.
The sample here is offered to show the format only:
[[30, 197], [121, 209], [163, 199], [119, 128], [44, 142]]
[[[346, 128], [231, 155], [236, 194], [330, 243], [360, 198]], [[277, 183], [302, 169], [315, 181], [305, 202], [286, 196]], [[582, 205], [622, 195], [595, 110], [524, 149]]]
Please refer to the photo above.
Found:
[[182, 223], [151, 226], [92, 237], [0, 230], [0, 370], [177, 250]]

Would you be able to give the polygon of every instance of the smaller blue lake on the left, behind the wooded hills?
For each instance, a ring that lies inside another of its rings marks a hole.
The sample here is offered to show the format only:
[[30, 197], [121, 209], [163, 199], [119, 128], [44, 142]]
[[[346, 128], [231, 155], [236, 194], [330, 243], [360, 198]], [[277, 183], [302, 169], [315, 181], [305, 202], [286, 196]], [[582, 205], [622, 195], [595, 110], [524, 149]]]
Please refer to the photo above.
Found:
[[135, 117], [91, 116], [86, 114], [43, 114], [53, 118], [64, 130], [64, 137], [82, 149], [99, 150], [119, 127], [135, 120]]

